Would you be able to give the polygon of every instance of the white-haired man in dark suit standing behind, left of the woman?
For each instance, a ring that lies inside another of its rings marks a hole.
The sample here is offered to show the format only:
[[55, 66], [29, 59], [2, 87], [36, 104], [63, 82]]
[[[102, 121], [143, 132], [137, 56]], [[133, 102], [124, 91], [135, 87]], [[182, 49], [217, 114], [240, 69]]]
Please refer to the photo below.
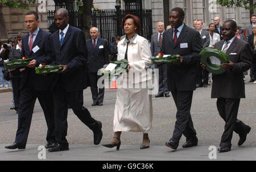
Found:
[[[109, 48], [106, 40], [98, 37], [98, 28], [90, 28], [91, 39], [86, 41], [87, 64], [89, 67], [90, 91], [92, 92], [92, 106], [102, 106], [104, 98], [104, 87], [97, 86], [98, 79], [101, 77], [97, 72], [105, 64], [109, 63]], [[104, 83], [102, 83], [104, 84]]]

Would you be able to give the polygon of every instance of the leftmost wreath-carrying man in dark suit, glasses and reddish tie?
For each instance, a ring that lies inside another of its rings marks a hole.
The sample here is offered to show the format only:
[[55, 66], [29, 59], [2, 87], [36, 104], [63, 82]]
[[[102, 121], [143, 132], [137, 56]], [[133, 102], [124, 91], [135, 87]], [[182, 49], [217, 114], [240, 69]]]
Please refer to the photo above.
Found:
[[[40, 20], [35, 11], [27, 12], [25, 15], [25, 24], [30, 31], [22, 38], [22, 57], [32, 58], [32, 61], [23, 71], [20, 83], [20, 98], [18, 108], [18, 129], [14, 144], [6, 146], [6, 149], [25, 149], [32, 114], [36, 98], [44, 111], [47, 131], [46, 148], [55, 145], [55, 126], [53, 117], [53, 99], [51, 84], [54, 78], [48, 75], [36, 75], [35, 67], [40, 63], [48, 61], [51, 57], [51, 48], [49, 36], [51, 33], [43, 31], [38, 27]], [[20, 57], [21, 58], [21, 57]]]

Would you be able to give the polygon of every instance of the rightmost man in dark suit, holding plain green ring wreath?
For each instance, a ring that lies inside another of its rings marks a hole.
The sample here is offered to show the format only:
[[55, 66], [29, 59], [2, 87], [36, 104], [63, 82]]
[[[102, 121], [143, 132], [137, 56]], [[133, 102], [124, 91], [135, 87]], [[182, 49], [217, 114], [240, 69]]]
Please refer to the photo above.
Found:
[[[212, 76], [212, 98], [217, 98], [217, 109], [221, 118], [225, 121], [225, 129], [221, 136], [219, 152], [228, 152], [231, 149], [233, 131], [240, 136], [238, 145], [241, 146], [250, 127], [237, 119], [240, 99], [245, 98], [245, 83], [243, 72], [251, 66], [253, 53], [250, 45], [236, 37], [236, 21], [226, 20], [222, 25], [223, 40], [217, 42], [214, 48], [228, 54], [229, 63], [223, 63], [225, 72]], [[204, 68], [204, 65], [202, 65]]]

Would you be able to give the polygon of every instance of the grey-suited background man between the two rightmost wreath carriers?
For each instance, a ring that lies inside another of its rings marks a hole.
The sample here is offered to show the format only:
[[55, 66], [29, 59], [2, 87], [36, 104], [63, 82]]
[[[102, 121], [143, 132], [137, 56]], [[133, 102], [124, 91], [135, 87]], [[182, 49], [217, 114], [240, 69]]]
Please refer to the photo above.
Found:
[[[209, 32], [203, 29], [203, 21], [197, 20], [196, 21], [196, 29], [200, 32], [203, 48], [206, 48], [210, 45], [210, 35]], [[200, 67], [200, 63], [197, 65], [197, 84], [196, 88], [199, 87], [208, 87], [208, 78], [209, 78], [209, 72], [206, 70], [203, 70], [203, 68]]]

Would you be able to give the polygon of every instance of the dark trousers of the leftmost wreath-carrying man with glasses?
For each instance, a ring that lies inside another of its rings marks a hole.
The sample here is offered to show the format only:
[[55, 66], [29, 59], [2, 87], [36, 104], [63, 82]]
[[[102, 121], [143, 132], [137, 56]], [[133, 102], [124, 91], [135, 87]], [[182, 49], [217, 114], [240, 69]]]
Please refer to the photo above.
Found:
[[32, 120], [32, 114], [36, 98], [43, 109], [47, 123], [47, 142], [55, 143], [55, 127], [53, 117], [53, 100], [51, 91], [36, 91], [29, 81], [20, 89], [20, 100], [18, 108], [18, 129], [15, 142], [20, 145], [27, 144], [28, 132]]

